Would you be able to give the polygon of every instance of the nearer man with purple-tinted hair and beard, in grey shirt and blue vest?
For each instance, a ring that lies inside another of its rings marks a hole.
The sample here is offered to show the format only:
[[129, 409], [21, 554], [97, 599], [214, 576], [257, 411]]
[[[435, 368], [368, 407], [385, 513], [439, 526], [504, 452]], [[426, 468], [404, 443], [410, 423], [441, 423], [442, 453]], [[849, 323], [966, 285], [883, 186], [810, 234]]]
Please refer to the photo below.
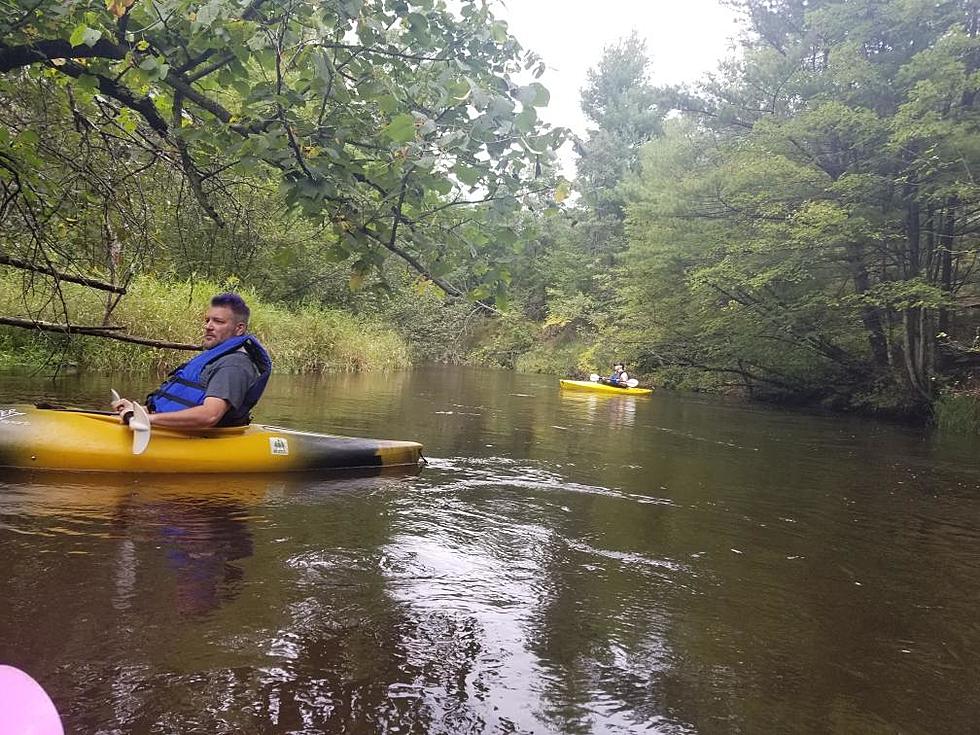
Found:
[[[175, 369], [147, 396], [150, 424], [172, 429], [245, 426], [272, 371], [269, 353], [247, 333], [249, 308], [235, 293], [211, 299], [204, 317], [204, 351]], [[112, 408], [124, 423], [133, 416], [125, 398]]]

